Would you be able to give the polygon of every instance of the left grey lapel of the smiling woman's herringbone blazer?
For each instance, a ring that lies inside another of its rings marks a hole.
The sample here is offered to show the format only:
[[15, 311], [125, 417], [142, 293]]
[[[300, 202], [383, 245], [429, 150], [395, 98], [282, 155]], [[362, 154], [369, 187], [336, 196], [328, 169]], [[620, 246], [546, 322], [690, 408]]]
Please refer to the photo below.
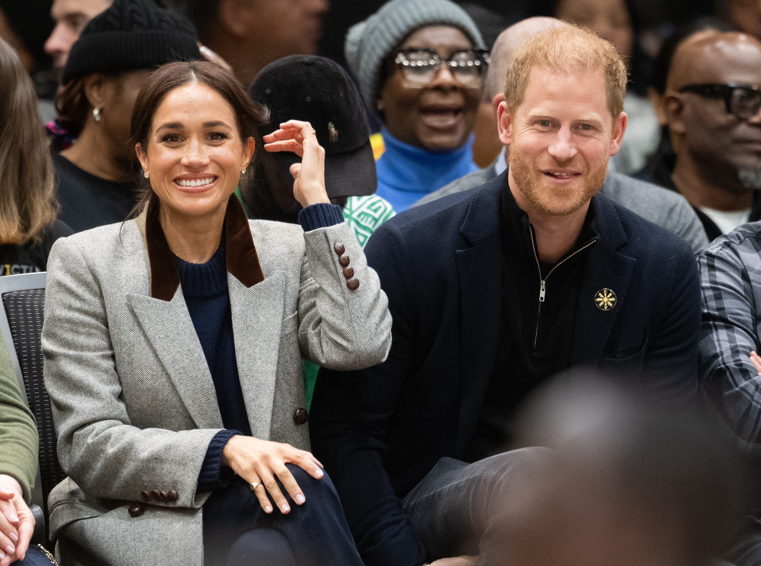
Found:
[[222, 428], [212, 374], [182, 288], [172, 300], [128, 294], [132, 311], [198, 428]]

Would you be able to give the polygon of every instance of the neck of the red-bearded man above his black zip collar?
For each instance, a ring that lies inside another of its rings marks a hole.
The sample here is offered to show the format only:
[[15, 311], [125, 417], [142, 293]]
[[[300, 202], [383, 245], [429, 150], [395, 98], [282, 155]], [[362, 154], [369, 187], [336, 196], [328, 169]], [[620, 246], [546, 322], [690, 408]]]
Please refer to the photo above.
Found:
[[517, 184], [508, 171], [510, 192], [518, 207], [525, 211], [533, 226], [534, 237], [537, 240], [537, 253], [539, 259], [546, 263], [557, 263], [565, 254], [573, 249], [581, 228], [584, 227], [584, 219], [587, 218], [589, 201], [581, 208], [569, 215], [554, 216], [545, 212], [537, 211], [517, 189]]

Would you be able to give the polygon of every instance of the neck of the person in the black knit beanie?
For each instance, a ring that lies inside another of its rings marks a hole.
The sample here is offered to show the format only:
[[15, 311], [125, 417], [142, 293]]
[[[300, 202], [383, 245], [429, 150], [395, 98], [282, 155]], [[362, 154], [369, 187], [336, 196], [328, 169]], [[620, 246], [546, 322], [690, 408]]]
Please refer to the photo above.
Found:
[[[108, 181], [131, 183], [135, 180], [137, 167], [125, 163], [112, 151], [113, 143], [102, 135], [97, 126], [85, 126], [77, 143], [65, 149], [61, 155], [91, 175]], [[137, 159], [135, 158], [135, 162]]]

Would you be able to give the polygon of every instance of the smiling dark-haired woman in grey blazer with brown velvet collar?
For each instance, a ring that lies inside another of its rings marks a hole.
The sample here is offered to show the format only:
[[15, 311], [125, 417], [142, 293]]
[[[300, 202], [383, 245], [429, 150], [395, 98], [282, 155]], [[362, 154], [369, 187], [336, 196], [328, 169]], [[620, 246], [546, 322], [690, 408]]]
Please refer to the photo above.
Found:
[[53, 247], [42, 340], [69, 477], [51, 536], [81, 564], [361, 566], [307, 452], [301, 358], [383, 361], [387, 298], [308, 122], [264, 138], [301, 157], [301, 227], [247, 221], [234, 191], [265, 120], [231, 72], [164, 65], [132, 116], [139, 216]]

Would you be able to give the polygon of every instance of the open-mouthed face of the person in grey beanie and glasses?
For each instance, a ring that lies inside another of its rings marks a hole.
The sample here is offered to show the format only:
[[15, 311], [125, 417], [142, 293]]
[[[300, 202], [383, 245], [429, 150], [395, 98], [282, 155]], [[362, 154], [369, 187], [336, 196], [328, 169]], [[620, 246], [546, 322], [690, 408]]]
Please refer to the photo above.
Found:
[[[424, 27], [412, 33], [399, 49], [430, 49], [449, 57], [455, 51], [472, 49], [456, 27]], [[433, 80], [422, 88], [406, 85], [402, 70], [395, 65], [380, 98], [378, 110], [386, 116], [393, 137], [429, 150], [462, 147], [476, 122], [480, 88], [465, 88], [442, 65]]]

